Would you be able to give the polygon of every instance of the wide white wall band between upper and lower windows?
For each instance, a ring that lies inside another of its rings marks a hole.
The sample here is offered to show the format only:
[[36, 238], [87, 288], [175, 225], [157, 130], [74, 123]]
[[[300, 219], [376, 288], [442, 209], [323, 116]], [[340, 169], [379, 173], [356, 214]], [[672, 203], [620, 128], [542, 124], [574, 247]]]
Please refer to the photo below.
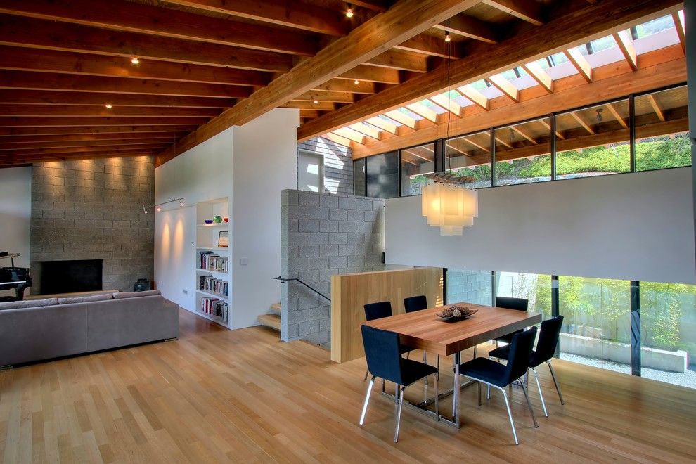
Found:
[[463, 236], [425, 224], [420, 196], [386, 202], [389, 264], [696, 283], [691, 169], [479, 190]]

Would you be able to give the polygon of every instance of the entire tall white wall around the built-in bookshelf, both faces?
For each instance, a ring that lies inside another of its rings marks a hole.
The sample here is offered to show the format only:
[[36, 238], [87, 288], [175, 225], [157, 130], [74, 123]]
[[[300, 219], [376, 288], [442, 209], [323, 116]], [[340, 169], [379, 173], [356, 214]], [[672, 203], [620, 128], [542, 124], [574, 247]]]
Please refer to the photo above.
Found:
[[228, 197], [233, 328], [257, 325], [281, 300], [271, 278], [281, 269], [281, 191], [297, 184], [298, 125], [299, 110], [276, 109], [157, 167], [156, 202], [184, 197], [187, 205], [156, 215], [155, 281], [165, 297], [195, 311], [195, 203]]

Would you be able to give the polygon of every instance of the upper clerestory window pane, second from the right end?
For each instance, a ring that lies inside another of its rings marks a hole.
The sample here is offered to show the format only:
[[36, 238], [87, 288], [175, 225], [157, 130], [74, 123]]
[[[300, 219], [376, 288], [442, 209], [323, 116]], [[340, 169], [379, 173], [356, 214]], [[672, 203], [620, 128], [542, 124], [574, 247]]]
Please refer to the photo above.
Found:
[[628, 100], [557, 115], [557, 179], [631, 171], [628, 123]]

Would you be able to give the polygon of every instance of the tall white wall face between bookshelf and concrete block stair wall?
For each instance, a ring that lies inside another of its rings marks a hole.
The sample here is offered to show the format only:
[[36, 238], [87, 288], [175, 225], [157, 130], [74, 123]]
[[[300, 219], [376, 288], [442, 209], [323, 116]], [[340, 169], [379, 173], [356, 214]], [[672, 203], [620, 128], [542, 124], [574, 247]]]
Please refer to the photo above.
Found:
[[[281, 301], [281, 191], [297, 185], [299, 111], [279, 108], [234, 128], [233, 327]], [[247, 262], [247, 264], [242, 264]]]

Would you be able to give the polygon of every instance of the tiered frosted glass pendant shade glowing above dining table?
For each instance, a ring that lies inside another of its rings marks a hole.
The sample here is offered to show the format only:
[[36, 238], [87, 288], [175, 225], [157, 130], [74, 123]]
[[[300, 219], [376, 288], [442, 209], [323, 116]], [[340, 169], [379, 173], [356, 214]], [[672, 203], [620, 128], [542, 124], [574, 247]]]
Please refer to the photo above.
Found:
[[460, 236], [479, 216], [478, 198], [475, 189], [431, 183], [423, 189], [421, 213], [429, 226], [440, 228], [441, 236]]

